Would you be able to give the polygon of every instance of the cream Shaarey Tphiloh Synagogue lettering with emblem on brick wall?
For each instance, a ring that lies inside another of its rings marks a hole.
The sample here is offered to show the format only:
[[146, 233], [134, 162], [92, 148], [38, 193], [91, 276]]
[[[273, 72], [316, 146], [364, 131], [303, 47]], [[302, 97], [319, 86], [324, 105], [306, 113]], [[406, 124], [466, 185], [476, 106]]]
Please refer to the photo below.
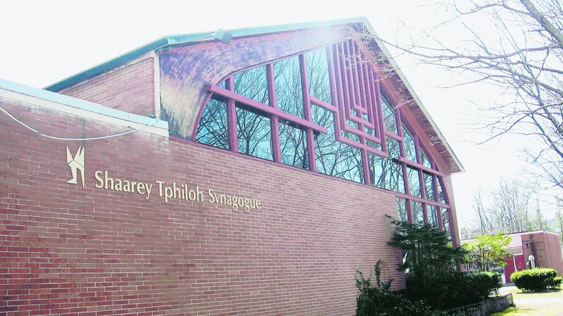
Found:
[[[79, 146], [75, 156], [72, 156], [68, 146], [67, 150], [67, 164], [72, 172], [72, 179], [67, 183], [77, 184], [77, 171], [80, 171], [82, 179], [82, 187], [86, 187], [84, 178], [86, 165], [85, 165], [85, 148]], [[124, 179], [118, 177], [111, 177], [108, 170], [96, 170], [94, 172], [96, 182], [94, 187], [96, 189], [106, 189], [110, 191], [127, 192], [130, 194], [140, 194], [146, 200], [151, 196], [158, 195], [164, 198], [165, 203], [170, 200], [192, 201], [200, 203], [211, 203], [215, 208], [219, 206], [230, 206], [232, 210], [251, 210], [260, 209], [262, 202], [255, 198], [243, 198], [241, 196], [234, 196], [229, 194], [219, 194], [215, 189], [202, 190], [199, 186], [189, 187], [188, 184], [177, 184], [176, 182], [165, 182], [156, 180], [153, 183], [134, 181], [132, 179]]]

